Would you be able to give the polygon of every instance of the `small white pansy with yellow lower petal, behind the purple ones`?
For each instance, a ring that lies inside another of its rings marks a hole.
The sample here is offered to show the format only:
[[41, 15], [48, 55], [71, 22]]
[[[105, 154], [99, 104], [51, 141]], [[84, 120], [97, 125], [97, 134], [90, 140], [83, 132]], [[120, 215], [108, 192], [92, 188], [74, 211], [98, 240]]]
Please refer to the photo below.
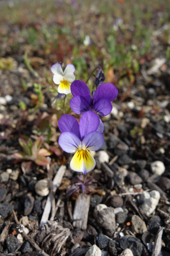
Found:
[[53, 81], [55, 84], [58, 84], [58, 92], [69, 94], [71, 93], [70, 84], [75, 80], [75, 67], [72, 64], [68, 64], [63, 71], [60, 63], [56, 63], [51, 67], [53, 72]]

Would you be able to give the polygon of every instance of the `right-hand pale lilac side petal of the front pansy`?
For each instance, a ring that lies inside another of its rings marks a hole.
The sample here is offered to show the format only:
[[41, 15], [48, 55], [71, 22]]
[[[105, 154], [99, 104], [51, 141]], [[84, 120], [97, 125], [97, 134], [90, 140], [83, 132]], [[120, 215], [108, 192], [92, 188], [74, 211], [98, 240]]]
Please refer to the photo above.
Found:
[[98, 131], [91, 131], [82, 141], [83, 149], [96, 151], [103, 145], [104, 137]]

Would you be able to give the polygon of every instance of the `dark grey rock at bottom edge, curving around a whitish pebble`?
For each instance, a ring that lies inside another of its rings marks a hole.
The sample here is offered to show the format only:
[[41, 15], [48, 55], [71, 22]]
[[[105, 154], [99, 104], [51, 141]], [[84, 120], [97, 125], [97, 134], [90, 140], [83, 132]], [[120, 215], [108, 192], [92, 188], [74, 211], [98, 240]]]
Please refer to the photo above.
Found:
[[125, 250], [130, 248], [134, 256], [141, 256], [143, 245], [140, 240], [134, 236], [124, 236], [120, 239], [120, 247]]

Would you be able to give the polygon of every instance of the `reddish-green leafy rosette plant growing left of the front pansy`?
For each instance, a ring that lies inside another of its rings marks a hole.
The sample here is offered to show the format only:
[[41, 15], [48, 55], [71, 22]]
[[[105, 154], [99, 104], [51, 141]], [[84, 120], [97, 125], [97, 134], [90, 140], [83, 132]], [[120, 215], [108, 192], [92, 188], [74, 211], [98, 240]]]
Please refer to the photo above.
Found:
[[19, 139], [19, 143], [23, 148], [23, 152], [17, 152], [12, 155], [18, 161], [31, 160], [37, 165], [48, 165], [49, 161], [46, 156], [51, 155], [52, 152], [46, 148], [41, 148], [43, 140], [38, 138], [35, 142], [32, 139]]

